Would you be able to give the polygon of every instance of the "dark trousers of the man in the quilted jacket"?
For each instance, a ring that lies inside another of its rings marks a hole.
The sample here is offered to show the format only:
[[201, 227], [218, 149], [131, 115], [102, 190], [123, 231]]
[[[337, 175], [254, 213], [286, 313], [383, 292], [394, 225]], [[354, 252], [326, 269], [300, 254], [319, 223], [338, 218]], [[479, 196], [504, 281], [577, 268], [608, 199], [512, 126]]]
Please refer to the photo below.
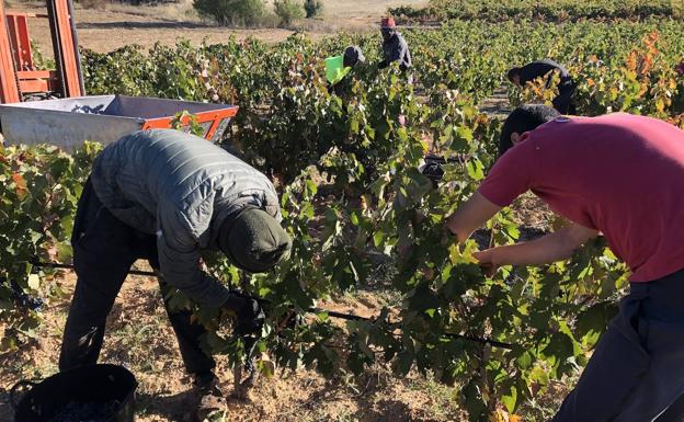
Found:
[[[156, 237], [114, 217], [95, 195], [90, 181], [79, 199], [71, 246], [78, 280], [61, 343], [61, 370], [98, 362], [106, 317], [133, 263], [146, 259], [153, 269], [159, 267]], [[161, 278], [159, 284], [164, 292]], [[171, 310], [166, 300], [164, 307], [187, 372], [209, 373], [215, 362], [200, 346], [204, 327], [191, 322], [190, 310]]]

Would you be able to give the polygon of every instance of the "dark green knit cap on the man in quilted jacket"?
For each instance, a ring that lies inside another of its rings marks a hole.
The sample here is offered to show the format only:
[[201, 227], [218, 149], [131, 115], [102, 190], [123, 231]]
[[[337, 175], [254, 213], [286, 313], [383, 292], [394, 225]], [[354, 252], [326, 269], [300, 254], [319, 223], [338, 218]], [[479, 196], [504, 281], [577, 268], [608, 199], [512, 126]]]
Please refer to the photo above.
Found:
[[278, 221], [259, 208], [246, 208], [224, 223], [220, 249], [238, 267], [263, 273], [289, 256], [292, 239]]

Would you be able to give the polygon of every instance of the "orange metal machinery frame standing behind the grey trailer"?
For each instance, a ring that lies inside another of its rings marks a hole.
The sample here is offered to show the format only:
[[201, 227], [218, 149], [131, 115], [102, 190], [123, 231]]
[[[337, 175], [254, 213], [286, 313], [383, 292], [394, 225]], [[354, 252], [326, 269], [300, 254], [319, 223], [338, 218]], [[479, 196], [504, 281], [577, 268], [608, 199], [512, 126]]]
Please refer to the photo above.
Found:
[[[25, 94], [42, 92], [61, 98], [86, 94], [72, 16], [71, 0], [47, 0], [47, 14], [5, 13], [0, 0], [0, 103], [21, 102]], [[56, 70], [35, 70], [29, 18], [48, 19]]]

